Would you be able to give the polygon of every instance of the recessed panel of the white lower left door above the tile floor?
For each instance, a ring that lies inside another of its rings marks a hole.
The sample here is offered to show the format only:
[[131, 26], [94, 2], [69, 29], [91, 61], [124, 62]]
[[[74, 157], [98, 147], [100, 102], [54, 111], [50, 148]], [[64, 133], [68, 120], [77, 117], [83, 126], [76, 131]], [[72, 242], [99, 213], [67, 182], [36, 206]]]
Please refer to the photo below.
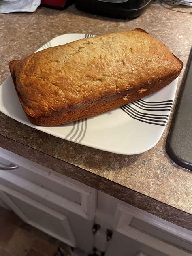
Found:
[[3, 201], [23, 221], [73, 247], [75, 239], [66, 216], [9, 188], [0, 190]]

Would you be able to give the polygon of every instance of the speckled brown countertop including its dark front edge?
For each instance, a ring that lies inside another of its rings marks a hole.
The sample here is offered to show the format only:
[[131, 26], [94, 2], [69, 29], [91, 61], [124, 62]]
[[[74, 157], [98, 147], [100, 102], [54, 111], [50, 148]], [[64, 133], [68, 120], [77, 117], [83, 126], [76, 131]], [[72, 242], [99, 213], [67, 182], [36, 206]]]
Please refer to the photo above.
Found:
[[[0, 82], [9, 75], [9, 60], [29, 55], [60, 34], [103, 34], [138, 27], [166, 43], [184, 62], [184, 71], [192, 39], [190, 11], [186, 8], [169, 9], [154, 3], [143, 15], [131, 21], [82, 13], [75, 6], [65, 11], [38, 8], [35, 13], [2, 14]], [[153, 149], [124, 156], [53, 137], [1, 113], [0, 146], [160, 218], [192, 229], [191, 173], [176, 166], [165, 151], [171, 117]]]

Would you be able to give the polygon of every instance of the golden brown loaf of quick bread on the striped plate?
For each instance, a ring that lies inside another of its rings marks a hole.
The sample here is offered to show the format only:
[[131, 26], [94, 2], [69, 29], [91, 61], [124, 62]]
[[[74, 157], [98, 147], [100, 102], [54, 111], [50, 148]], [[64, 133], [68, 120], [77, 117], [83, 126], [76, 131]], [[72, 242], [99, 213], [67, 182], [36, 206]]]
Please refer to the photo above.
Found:
[[86, 38], [9, 62], [34, 124], [72, 122], [143, 98], [173, 81], [183, 63], [145, 30]]

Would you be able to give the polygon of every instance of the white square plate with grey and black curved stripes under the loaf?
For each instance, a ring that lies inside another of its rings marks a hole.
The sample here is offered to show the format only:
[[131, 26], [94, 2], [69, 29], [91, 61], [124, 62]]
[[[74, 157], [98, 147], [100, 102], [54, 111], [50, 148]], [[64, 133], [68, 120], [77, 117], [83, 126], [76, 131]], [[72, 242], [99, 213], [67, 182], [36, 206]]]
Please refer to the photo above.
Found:
[[[37, 51], [87, 37], [92, 35], [64, 34]], [[177, 81], [178, 78], [154, 94], [101, 115], [43, 127], [27, 119], [9, 76], [0, 86], [0, 106], [5, 115], [53, 136], [117, 154], [139, 154], [154, 147], [161, 138], [173, 105]]]

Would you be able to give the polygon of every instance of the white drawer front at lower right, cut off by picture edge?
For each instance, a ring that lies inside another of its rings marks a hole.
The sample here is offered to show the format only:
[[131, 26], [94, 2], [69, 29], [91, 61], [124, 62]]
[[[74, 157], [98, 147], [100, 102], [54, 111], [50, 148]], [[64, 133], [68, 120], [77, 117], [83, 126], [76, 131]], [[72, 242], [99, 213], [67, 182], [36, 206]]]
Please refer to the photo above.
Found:
[[[191, 255], [192, 233], [129, 205], [118, 205], [113, 228], [168, 255]], [[138, 236], [138, 237], [137, 237]], [[153, 242], [152, 242], [153, 241]], [[156, 249], [156, 247], [154, 247]], [[175, 251], [175, 252], [174, 252]], [[179, 254], [180, 253], [180, 254]]]

